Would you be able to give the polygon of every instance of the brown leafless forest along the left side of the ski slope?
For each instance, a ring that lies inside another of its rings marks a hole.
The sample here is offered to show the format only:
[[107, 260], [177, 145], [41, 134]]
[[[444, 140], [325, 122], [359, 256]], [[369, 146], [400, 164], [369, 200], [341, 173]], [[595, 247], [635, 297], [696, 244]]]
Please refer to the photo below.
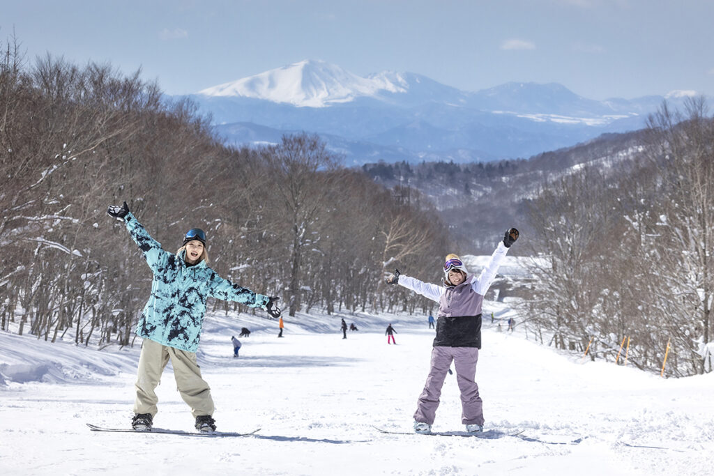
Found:
[[189, 228], [206, 230], [212, 267], [281, 296], [290, 315], [427, 305], [381, 281], [395, 266], [438, 278], [448, 234], [435, 213], [337, 166], [315, 136], [226, 148], [191, 103], [167, 105], [140, 73], [49, 56], [26, 64], [14, 45], [4, 51], [2, 330], [133, 343], [151, 272], [106, 214], [124, 200], [167, 250]]

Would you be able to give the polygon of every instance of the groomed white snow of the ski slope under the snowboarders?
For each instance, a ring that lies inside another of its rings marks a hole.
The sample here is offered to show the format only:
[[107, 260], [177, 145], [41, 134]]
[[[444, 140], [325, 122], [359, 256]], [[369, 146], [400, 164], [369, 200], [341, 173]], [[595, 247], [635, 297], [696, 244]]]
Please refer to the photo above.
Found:
[[[508, 301], [486, 303], [505, 320]], [[358, 332], [343, 340], [340, 318]], [[518, 320], [518, 315], [514, 315]], [[91, 432], [129, 425], [134, 348], [92, 350], [0, 333], [0, 474], [6, 475], [710, 475], [714, 375], [670, 379], [555, 353], [484, 319], [477, 369], [486, 430], [498, 439], [387, 435], [410, 431], [428, 371], [426, 315], [298, 315], [277, 322], [209, 314], [198, 359], [218, 430], [237, 438]], [[397, 345], [387, 345], [392, 323]], [[241, 338], [232, 358], [231, 335]], [[159, 427], [192, 430], [171, 365]], [[461, 431], [456, 375], [435, 431]]]

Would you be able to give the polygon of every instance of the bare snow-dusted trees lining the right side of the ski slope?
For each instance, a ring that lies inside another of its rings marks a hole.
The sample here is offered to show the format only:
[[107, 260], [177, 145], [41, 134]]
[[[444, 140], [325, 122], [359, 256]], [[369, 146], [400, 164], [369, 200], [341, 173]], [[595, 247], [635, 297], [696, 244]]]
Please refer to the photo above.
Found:
[[533, 296], [526, 312], [561, 348], [593, 338], [612, 358], [669, 375], [708, 371], [713, 339], [714, 120], [703, 98], [663, 105], [642, 152], [575, 170], [531, 204]]

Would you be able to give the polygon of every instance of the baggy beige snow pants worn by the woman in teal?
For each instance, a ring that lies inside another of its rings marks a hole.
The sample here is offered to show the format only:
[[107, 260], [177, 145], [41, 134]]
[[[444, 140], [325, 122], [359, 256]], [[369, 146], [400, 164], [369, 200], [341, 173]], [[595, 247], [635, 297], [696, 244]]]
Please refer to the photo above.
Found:
[[159, 411], [156, 407], [159, 397], [154, 390], [161, 381], [161, 373], [164, 372], [169, 359], [174, 367], [178, 393], [191, 407], [193, 417], [213, 415], [211, 388], [208, 387], [206, 380], [201, 378], [201, 368], [196, 362], [196, 353], [161, 345], [149, 339], [144, 339], [144, 344], [141, 346], [139, 369], [136, 372], [134, 413], [151, 413], [153, 417]]

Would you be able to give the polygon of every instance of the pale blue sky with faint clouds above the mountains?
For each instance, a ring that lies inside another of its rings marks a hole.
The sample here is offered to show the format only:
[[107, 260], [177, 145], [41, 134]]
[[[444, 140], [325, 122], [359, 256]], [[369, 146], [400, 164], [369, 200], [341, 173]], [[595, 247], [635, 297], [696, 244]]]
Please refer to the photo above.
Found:
[[170, 94], [303, 59], [478, 91], [561, 83], [593, 99], [714, 96], [713, 0], [0, 0], [0, 40], [109, 62]]

